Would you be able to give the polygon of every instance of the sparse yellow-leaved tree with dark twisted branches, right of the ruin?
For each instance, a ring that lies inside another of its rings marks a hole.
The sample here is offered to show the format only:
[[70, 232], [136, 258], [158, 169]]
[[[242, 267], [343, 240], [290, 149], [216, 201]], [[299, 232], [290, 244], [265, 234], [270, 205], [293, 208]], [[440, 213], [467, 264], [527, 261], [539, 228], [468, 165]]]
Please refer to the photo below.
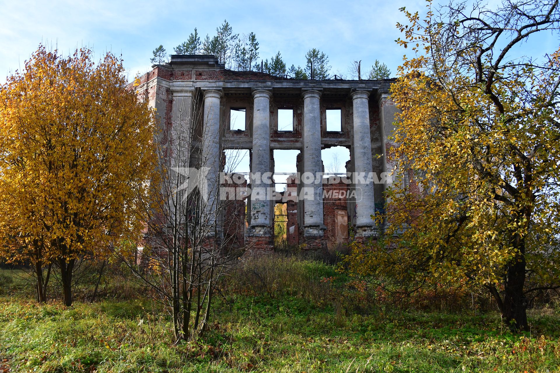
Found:
[[347, 263], [401, 284], [482, 286], [523, 330], [531, 299], [560, 286], [560, 52], [522, 48], [558, 40], [560, 11], [557, 0], [485, 4], [402, 8], [398, 43], [412, 56], [391, 88], [399, 182], [382, 244], [354, 247]]

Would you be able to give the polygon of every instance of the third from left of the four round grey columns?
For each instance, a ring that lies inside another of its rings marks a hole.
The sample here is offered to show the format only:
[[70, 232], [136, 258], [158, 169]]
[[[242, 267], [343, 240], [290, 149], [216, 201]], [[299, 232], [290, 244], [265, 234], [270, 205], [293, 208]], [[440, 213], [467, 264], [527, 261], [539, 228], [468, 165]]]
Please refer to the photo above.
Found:
[[323, 163], [321, 162], [320, 92], [304, 91], [304, 172], [301, 197], [304, 199], [306, 236], [323, 235]]

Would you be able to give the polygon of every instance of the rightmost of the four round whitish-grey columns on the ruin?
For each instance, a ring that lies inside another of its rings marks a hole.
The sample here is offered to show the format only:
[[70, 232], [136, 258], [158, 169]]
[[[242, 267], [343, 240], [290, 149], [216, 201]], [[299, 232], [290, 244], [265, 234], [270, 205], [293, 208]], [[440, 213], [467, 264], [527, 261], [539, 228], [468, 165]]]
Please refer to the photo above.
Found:
[[[375, 221], [375, 196], [374, 178], [370, 177], [373, 172], [371, 162], [371, 134], [370, 134], [370, 109], [368, 96], [370, 92], [352, 92], [353, 104], [353, 150], [354, 150], [354, 177], [353, 182], [357, 195], [361, 199], [357, 203], [356, 228], [361, 235], [372, 235], [376, 233]], [[361, 193], [359, 192], [361, 191]]]

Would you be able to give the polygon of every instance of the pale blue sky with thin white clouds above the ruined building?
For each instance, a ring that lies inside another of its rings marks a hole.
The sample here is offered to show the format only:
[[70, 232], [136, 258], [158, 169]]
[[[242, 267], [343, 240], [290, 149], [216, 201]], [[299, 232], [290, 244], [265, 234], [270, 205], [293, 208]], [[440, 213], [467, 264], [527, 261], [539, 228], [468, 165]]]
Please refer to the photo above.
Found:
[[[497, 3], [497, 0], [490, 0]], [[281, 51], [284, 62], [303, 65], [311, 48], [324, 51], [332, 73], [348, 73], [354, 60], [362, 60], [362, 72], [376, 59], [393, 74], [407, 50], [394, 42], [400, 36], [399, 11], [425, 11], [423, 0], [337, 1], [80, 1], [0, 0], [0, 83], [20, 68], [41, 41], [68, 54], [90, 46], [101, 56], [105, 51], [122, 55], [133, 77], [150, 70], [152, 50], [162, 44], [168, 53], [197, 27], [201, 37], [213, 35], [223, 20], [236, 34], [255, 32], [259, 58]], [[525, 44], [528, 55], [554, 50], [556, 37], [543, 35]], [[335, 149], [323, 151], [325, 167], [332, 154], [339, 154], [342, 167], [348, 155]], [[277, 172], [295, 171], [295, 153], [276, 157]], [[241, 165], [248, 168], [248, 160]]]

